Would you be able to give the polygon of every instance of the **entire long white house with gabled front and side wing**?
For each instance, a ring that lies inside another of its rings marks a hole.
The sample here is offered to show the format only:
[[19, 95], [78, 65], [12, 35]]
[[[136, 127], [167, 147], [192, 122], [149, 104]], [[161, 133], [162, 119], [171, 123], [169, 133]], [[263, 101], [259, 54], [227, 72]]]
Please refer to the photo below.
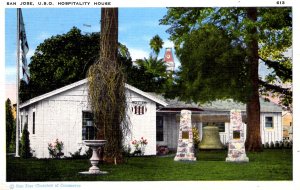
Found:
[[[81, 147], [85, 150], [83, 140], [94, 138], [87, 95], [87, 79], [83, 79], [20, 105], [20, 133], [24, 124], [28, 123], [34, 156], [49, 157], [48, 143], [57, 138], [64, 143], [65, 156]], [[177, 100], [166, 100], [127, 84], [126, 96], [131, 122], [131, 133], [126, 137], [126, 144], [131, 145], [134, 139], [139, 140], [141, 137], [147, 139], [145, 155], [155, 155], [158, 145], [168, 146], [169, 149], [177, 147], [179, 113], [182, 109], [192, 111], [192, 122], [198, 127], [200, 136], [202, 127], [208, 122], [217, 124], [223, 143], [228, 140], [229, 111], [241, 109], [245, 115], [245, 105], [232, 101], [216, 101], [202, 106], [185, 104]], [[279, 106], [261, 100], [263, 143], [282, 140], [281, 112]]]

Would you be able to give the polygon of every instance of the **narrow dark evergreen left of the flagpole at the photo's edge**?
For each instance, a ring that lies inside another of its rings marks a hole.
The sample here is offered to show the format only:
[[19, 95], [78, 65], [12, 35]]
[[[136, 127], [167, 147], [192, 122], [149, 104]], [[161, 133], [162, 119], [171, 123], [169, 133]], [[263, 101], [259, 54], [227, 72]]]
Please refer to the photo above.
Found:
[[15, 120], [12, 112], [12, 105], [9, 98], [5, 102], [6, 112], [6, 152], [9, 151], [11, 143], [14, 143], [14, 132], [15, 132]]

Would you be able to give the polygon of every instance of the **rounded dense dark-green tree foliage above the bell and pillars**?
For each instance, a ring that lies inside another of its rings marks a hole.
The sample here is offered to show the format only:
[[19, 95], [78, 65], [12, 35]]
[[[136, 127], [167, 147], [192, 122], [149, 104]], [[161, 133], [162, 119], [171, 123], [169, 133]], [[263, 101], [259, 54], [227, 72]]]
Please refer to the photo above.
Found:
[[249, 91], [245, 85], [248, 73], [240, 64], [246, 52], [230, 41], [225, 31], [213, 25], [191, 32], [176, 52], [182, 63], [177, 82], [185, 92], [183, 99], [201, 103], [224, 98], [246, 101], [242, 93], [236, 93], [236, 90]]

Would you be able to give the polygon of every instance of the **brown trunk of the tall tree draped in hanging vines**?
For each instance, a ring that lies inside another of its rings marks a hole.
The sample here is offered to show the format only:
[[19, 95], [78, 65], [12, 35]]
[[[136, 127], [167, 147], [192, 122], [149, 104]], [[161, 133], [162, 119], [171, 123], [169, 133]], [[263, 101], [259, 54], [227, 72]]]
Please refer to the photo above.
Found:
[[[119, 68], [117, 62], [118, 55], [118, 8], [101, 9], [101, 39], [100, 39], [100, 58], [107, 67]], [[111, 69], [113, 69], [111, 68]], [[116, 71], [117, 75], [122, 75], [121, 71]], [[120, 80], [119, 80], [120, 79]], [[114, 96], [117, 100], [122, 100], [120, 88], [123, 87], [122, 77], [114, 79]], [[103, 130], [100, 130], [98, 137], [107, 140], [105, 150], [101, 151], [102, 159], [109, 163], [121, 163], [122, 157], [122, 130], [120, 128], [120, 114], [124, 110], [118, 105], [112, 105], [106, 110], [113, 113], [113, 121], [106, 123]], [[102, 127], [102, 126], [100, 126]]]

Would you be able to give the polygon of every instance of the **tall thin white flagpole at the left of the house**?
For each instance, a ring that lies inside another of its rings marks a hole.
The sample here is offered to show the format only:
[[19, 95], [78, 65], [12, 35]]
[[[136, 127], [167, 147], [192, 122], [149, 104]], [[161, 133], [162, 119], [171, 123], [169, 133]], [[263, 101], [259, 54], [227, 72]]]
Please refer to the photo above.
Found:
[[20, 81], [20, 8], [17, 8], [17, 81], [16, 81], [16, 102], [17, 102], [17, 116], [16, 116], [16, 154], [19, 155], [19, 84]]

